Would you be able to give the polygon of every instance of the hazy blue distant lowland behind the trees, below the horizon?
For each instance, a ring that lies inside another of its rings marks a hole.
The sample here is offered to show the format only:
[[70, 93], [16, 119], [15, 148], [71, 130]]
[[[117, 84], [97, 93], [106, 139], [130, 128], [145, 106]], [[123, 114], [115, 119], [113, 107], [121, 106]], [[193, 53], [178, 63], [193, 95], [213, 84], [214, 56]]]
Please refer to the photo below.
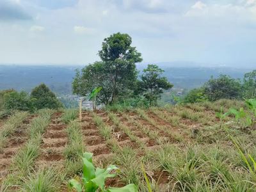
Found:
[[[217, 77], [220, 74], [227, 74], [243, 78], [244, 73], [252, 71], [248, 68], [195, 67], [195, 65], [192, 67], [188, 62], [180, 63], [180, 65], [179, 62], [154, 64], [165, 70], [164, 76], [168, 77], [175, 88], [188, 89], [202, 86], [210, 76]], [[191, 67], [184, 67], [185, 65]], [[14, 88], [17, 91], [30, 92], [38, 84], [45, 83], [54, 92], [68, 94], [72, 92], [71, 82], [72, 77], [76, 75], [76, 68], [83, 67], [79, 65], [0, 65], [0, 90]], [[146, 67], [146, 63], [139, 64], [138, 70], [142, 71]]]

